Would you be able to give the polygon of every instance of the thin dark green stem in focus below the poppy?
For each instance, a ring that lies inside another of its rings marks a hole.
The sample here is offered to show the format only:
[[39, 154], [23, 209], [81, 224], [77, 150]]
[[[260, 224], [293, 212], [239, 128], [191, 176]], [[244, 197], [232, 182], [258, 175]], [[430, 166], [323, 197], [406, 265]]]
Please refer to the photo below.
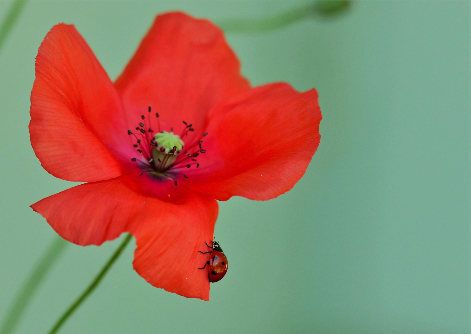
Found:
[[128, 245], [129, 241], [131, 240], [132, 235], [127, 234], [126, 237], [123, 239], [121, 244], [119, 245], [118, 249], [116, 249], [113, 253], [113, 255], [108, 259], [106, 264], [103, 266], [103, 268], [100, 270], [100, 272], [95, 276], [95, 278], [92, 280], [92, 282], [89, 284], [89, 286], [81, 293], [81, 295], [75, 300], [75, 302], [72, 303], [72, 305], [69, 306], [69, 308], [62, 314], [62, 316], [57, 320], [56, 324], [51, 328], [48, 334], [54, 334], [57, 333], [57, 331], [60, 329], [62, 325], [64, 325], [65, 321], [67, 318], [69, 318], [75, 310], [87, 299], [87, 297], [95, 290], [95, 288], [100, 284], [101, 280], [106, 275], [106, 272], [110, 270], [114, 262], [118, 259], [118, 257], [121, 255], [122, 251], [126, 248]]

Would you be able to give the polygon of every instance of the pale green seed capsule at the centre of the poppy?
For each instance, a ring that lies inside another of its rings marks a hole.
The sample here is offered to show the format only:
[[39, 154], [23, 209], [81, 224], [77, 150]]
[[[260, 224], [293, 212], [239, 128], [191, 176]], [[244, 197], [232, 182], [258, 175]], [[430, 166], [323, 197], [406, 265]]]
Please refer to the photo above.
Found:
[[177, 159], [184, 143], [178, 134], [162, 131], [154, 136], [156, 147], [152, 148], [152, 157], [157, 171], [165, 171]]

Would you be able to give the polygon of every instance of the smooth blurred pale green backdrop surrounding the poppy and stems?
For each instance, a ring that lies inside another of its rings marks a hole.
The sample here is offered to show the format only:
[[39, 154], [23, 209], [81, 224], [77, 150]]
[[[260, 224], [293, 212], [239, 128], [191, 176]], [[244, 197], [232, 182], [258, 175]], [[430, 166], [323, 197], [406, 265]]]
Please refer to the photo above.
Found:
[[[116, 78], [157, 13], [220, 22], [302, 4], [26, 4], [0, 53], [0, 315], [55, 237], [28, 206], [74, 185], [41, 168], [28, 138], [49, 29], [74, 23]], [[322, 139], [308, 171], [275, 200], [220, 202], [230, 269], [210, 302], [147, 284], [133, 245], [61, 333], [470, 333], [470, 2], [357, 1], [227, 39], [253, 85], [317, 88]], [[69, 246], [17, 333], [45, 333], [118, 243]]]

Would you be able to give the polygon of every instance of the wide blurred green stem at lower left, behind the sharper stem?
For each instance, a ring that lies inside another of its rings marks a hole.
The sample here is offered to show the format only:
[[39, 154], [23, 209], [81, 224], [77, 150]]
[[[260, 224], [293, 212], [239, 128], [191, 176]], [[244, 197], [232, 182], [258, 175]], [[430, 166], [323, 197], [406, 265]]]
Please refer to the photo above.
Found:
[[54, 237], [49, 248], [41, 256], [36, 267], [30, 273], [28, 279], [23, 283], [23, 286], [17, 292], [14, 302], [11, 304], [3, 323], [0, 327], [0, 334], [10, 334], [14, 331], [18, 321], [24, 314], [28, 303], [31, 301], [32, 296], [37, 288], [41, 285], [42, 280], [49, 272], [49, 270], [56, 263], [59, 256], [69, 243], [59, 236]]

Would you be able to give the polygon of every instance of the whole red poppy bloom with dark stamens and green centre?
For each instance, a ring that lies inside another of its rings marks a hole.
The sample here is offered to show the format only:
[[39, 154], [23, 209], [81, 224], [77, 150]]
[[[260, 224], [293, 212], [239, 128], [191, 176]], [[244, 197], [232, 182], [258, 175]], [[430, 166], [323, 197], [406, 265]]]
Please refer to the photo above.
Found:
[[269, 200], [302, 177], [319, 144], [317, 92], [251, 88], [221, 30], [157, 16], [122, 75], [108, 78], [73, 25], [36, 57], [31, 144], [52, 175], [87, 182], [32, 205], [63, 238], [134, 235], [134, 269], [154, 287], [209, 300], [216, 200]]

